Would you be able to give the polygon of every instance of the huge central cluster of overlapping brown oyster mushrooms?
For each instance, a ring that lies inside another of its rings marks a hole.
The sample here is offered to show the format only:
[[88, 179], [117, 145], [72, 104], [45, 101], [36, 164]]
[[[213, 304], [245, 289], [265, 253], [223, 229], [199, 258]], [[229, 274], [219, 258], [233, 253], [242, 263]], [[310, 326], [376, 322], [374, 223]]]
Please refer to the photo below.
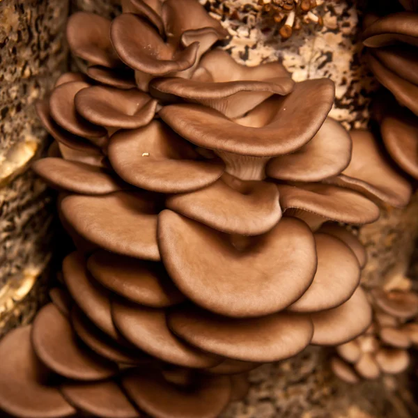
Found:
[[38, 103], [56, 142], [33, 169], [77, 250], [0, 342], [2, 410], [215, 418], [242, 373], [369, 327], [364, 248], [337, 223], [375, 221], [410, 186], [369, 132], [327, 117], [329, 79], [211, 49], [227, 33], [196, 0], [75, 13], [67, 35], [84, 72]]

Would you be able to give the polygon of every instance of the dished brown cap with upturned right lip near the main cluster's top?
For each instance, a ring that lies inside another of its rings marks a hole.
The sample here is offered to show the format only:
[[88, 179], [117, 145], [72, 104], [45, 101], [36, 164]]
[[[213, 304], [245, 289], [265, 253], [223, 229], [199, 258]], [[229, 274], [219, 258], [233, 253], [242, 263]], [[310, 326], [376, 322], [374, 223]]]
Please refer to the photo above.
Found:
[[183, 50], [166, 44], [146, 20], [123, 13], [111, 22], [111, 42], [121, 60], [148, 75], [165, 75], [192, 67], [199, 43]]

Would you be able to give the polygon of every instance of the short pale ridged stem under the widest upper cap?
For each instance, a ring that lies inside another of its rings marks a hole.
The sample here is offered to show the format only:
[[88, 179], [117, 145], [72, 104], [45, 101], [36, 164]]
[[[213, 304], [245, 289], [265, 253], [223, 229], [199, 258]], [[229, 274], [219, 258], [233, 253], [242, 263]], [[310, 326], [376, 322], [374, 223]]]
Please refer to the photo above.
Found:
[[226, 151], [215, 151], [226, 165], [226, 173], [240, 178], [240, 180], [263, 180], [265, 178], [265, 164], [270, 157], [252, 157], [251, 155], [237, 155]]

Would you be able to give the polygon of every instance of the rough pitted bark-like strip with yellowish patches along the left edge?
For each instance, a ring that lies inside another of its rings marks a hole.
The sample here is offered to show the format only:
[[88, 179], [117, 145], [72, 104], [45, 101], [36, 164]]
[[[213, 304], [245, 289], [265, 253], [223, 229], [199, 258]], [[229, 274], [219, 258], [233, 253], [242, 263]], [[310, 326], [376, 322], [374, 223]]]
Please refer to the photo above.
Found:
[[47, 145], [33, 104], [66, 68], [67, 16], [65, 0], [0, 1], [0, 334], [30, 320], [51, 253], [54, 203], [28, 166]]

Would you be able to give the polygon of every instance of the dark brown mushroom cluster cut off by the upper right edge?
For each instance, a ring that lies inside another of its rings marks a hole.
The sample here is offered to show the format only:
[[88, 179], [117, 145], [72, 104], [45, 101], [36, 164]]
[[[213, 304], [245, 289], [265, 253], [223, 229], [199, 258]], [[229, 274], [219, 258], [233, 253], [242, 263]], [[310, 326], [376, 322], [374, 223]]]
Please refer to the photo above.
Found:
[[369, 67], [393, 95], [377, 100], [382, 141], [396, 164], [418, 179], [418, 6], [399, 3], [402, 8], [392, 1], [366, 17], [363, 43]]

